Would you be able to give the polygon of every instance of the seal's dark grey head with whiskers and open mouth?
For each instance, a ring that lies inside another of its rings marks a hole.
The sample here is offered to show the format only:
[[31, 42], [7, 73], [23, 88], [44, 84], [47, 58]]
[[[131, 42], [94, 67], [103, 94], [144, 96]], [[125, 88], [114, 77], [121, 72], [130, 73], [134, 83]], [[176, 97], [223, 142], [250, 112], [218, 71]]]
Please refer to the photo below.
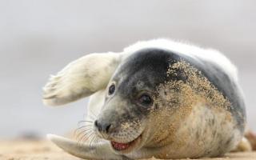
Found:
[[[157, 88], [167, 80], [170, 53], [165, 50], [139, 50], [120, 64], [107, 86], [106, 98], [94, 130], [110, 140], [116, 152], [129, 153], [149, 142], [152, 122], [158, 112]], [[149, 122], [151, 121], [151, 122]]]

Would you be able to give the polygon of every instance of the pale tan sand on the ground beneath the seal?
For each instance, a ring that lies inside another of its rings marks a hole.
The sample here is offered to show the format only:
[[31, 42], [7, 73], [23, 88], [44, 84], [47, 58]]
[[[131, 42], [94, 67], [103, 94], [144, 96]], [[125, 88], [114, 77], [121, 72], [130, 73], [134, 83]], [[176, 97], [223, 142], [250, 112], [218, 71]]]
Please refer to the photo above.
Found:
[[[13, 140], [0, 141], [0, 160], [78, 160], [66, 154], [53, 143], [46, 140]], [[154, 159], [154, 158], [152, 158]], [[229, 159], [229, 160], [256, 160], [256, 152], [229, 153], [223, 158], [202, 159]]]

